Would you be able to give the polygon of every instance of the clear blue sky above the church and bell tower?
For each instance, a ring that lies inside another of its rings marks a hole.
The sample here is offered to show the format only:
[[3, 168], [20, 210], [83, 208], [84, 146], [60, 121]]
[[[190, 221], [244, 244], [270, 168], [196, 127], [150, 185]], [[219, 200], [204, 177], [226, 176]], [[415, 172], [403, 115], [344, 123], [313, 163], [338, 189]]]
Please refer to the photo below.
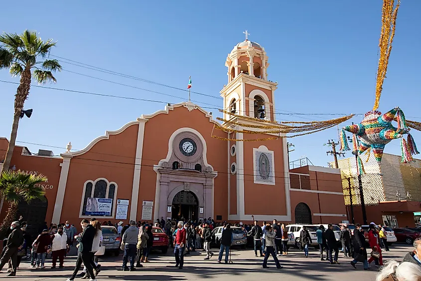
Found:
[[[51, 1], [16, 12], [7, 1], [0, 18], [0, 31], [36, 30], [41, 38], [57, 40], [53, 55], [110, 69], [178, 88], [186, 88], [192, 76], [192, 100], [222, 107], [219, 91], [227, 84], [225, 59], [238, 42], [249, 39], [265, 47], [269, 56], [269, 79], [277, 81], [276, 110], [280, 113], [365, 113], [373, 107], [381, 26], [381, 0], [349, 1]], [[421, 121], [419, 90], [421, 56], [421, 1], [402, 2], [396, 36], [384, 82], [379, 110], [400, 106], [407, 119]], [[19, 20], [16, 20], [16, 17]], [[179, 98], [62, 71], [52, 87], [180, 102], [184, 91], [110, 75], [62, 63], [65, 70], [116, 81]], [[18, 82], [7, 70], [0, 80]], [[47, 85], [50, 86], [50, 85]], [[16, 85], [0, 82], [0, 136], [9, 137]], [[98, 97], [33, 87], [17, 140], [50, 146], [82, 149], [106, 130], [116, 130], [142, 113], [162, 109], [164, 104]], [[209, 109], [218, 115], [216, 109]], [[335, 116], [277, 115], [279, 120], [310, 121]], [[301, 118], [300, 118], [301, 117]], [[359, 123], [361, 116], [351, 121]], [[314, 165], [326, 166], [328, 129], [310, 136], [289, 139], [295, 144], [290, 160], [306, 156]], [[421, 133], [414, 132], [421, 147]], [[18, 145], [25, 145], [17, 143]], [[64, 149], [28, 145], [32, 152]], [[338, 147], [339, 149], [339, 147]], [[399, 141], [385, 152], [400, 154]], [[347, 156], [351, 156], [348, 153]]]

